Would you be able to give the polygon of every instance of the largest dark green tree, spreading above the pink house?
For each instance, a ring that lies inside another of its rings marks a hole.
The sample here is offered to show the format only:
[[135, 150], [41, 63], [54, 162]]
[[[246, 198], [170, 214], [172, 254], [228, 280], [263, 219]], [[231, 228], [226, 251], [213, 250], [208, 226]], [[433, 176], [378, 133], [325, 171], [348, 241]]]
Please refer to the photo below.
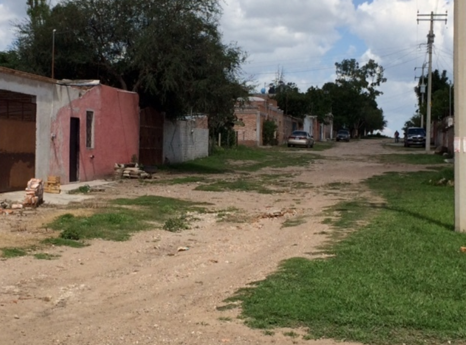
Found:
[[[56, 78], [100, 79], [138, 92], [168, 116], [203, 112], [231, 123], [245, 54], [225, 45], [219, 0], [28, 0], [18, 25], [21, 68]], [[54, 31], [55, 30], [55, 31]]]

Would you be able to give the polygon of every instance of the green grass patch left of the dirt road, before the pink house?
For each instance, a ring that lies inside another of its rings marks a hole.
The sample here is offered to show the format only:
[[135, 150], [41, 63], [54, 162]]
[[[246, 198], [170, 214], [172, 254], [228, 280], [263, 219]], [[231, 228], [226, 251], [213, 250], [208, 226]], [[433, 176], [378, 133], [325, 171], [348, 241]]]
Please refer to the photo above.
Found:
[[[112, 205], [89, 217], [64, 214], [47, 227], [61, 230], [60, 238], [68, 241], [101, 238], [124, 241], [131, 234], [154, 227], [154, 223], [169, 231], [185, 228], [187, 212], [205, 212], [207, 203], [160, 196], [142, 196], [136, 199], [115, 199]], [[183, 223], [184, 222], [184, 223]], [[186, 223], [187, 224], [187, 223]], [[67, 242], [72, 243], [72, 242]]]

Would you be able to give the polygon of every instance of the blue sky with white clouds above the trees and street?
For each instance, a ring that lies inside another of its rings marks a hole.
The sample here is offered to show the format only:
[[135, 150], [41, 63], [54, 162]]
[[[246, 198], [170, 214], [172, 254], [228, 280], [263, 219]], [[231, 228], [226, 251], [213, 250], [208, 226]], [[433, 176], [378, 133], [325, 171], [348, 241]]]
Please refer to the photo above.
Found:
[[[54, 0], [57, 2], [59, 0]], [[244, 72], [259, 85], [278, 70], [301, 91], [334, 81], [335, 62], [374, 59], [385, 68], [387, 82], [378, 98], [388, 126], [400, 131], [416, 109], [413, 87], [428, 61], [429, 22], [417, 13], [445, 14], [435, 22], [433, 68], [453, 80], [453, 0], [224, 0], [221, 29], [225, 42], [248, 53]], [[0, 51], [14, 39], [12, 21], [26, 13], [26, 0], [0, 0]], [[426, 18], [426, 17], [424, 17]], [[417, 68], [417, 69], [416, 69]]]

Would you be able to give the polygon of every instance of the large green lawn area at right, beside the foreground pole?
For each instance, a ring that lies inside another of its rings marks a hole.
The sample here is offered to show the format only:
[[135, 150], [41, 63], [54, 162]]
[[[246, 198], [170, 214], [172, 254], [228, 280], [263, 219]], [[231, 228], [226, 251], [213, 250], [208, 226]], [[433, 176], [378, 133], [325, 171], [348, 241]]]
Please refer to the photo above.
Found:
[[[296, 257], [256, 287], [238, 291], [252, 327], [307, 327], [307, 338], [371, 344], [463, 343], [466, 338], [466, 236], [453, 232], [453, 189], [428, 184], [438, 171], [368, 180], [386, 204], [367, 204], [369, 223], [328, 250], [326, 260]], [[357, 224], [356, 203], [335, 211]], [[373, 212], [372, 210], [377, 210]], [[340, 224], [340, 225], [338, 225]]]

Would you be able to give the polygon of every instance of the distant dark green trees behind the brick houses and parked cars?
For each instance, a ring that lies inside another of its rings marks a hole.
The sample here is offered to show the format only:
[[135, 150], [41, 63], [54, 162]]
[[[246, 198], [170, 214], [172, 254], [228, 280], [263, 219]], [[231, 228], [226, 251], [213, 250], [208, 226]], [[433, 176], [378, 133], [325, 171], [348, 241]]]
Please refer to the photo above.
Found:
[[363, 66], [354, 60], [335, 63], [336, 80], [322, 88], [310, 87], [301, 93], [298, 86], [284, 81], [283, 71], [270, 84], [278, 106], [288, 115], [302, 118], [306, 114], [325, 122], [333, 115], [335, 129], [348, 128], [353, 135], [384, 130], [387, 121], [376, 99], [382, 94], [378, 87], [387, 81], [384, 68], [369, 60]]

